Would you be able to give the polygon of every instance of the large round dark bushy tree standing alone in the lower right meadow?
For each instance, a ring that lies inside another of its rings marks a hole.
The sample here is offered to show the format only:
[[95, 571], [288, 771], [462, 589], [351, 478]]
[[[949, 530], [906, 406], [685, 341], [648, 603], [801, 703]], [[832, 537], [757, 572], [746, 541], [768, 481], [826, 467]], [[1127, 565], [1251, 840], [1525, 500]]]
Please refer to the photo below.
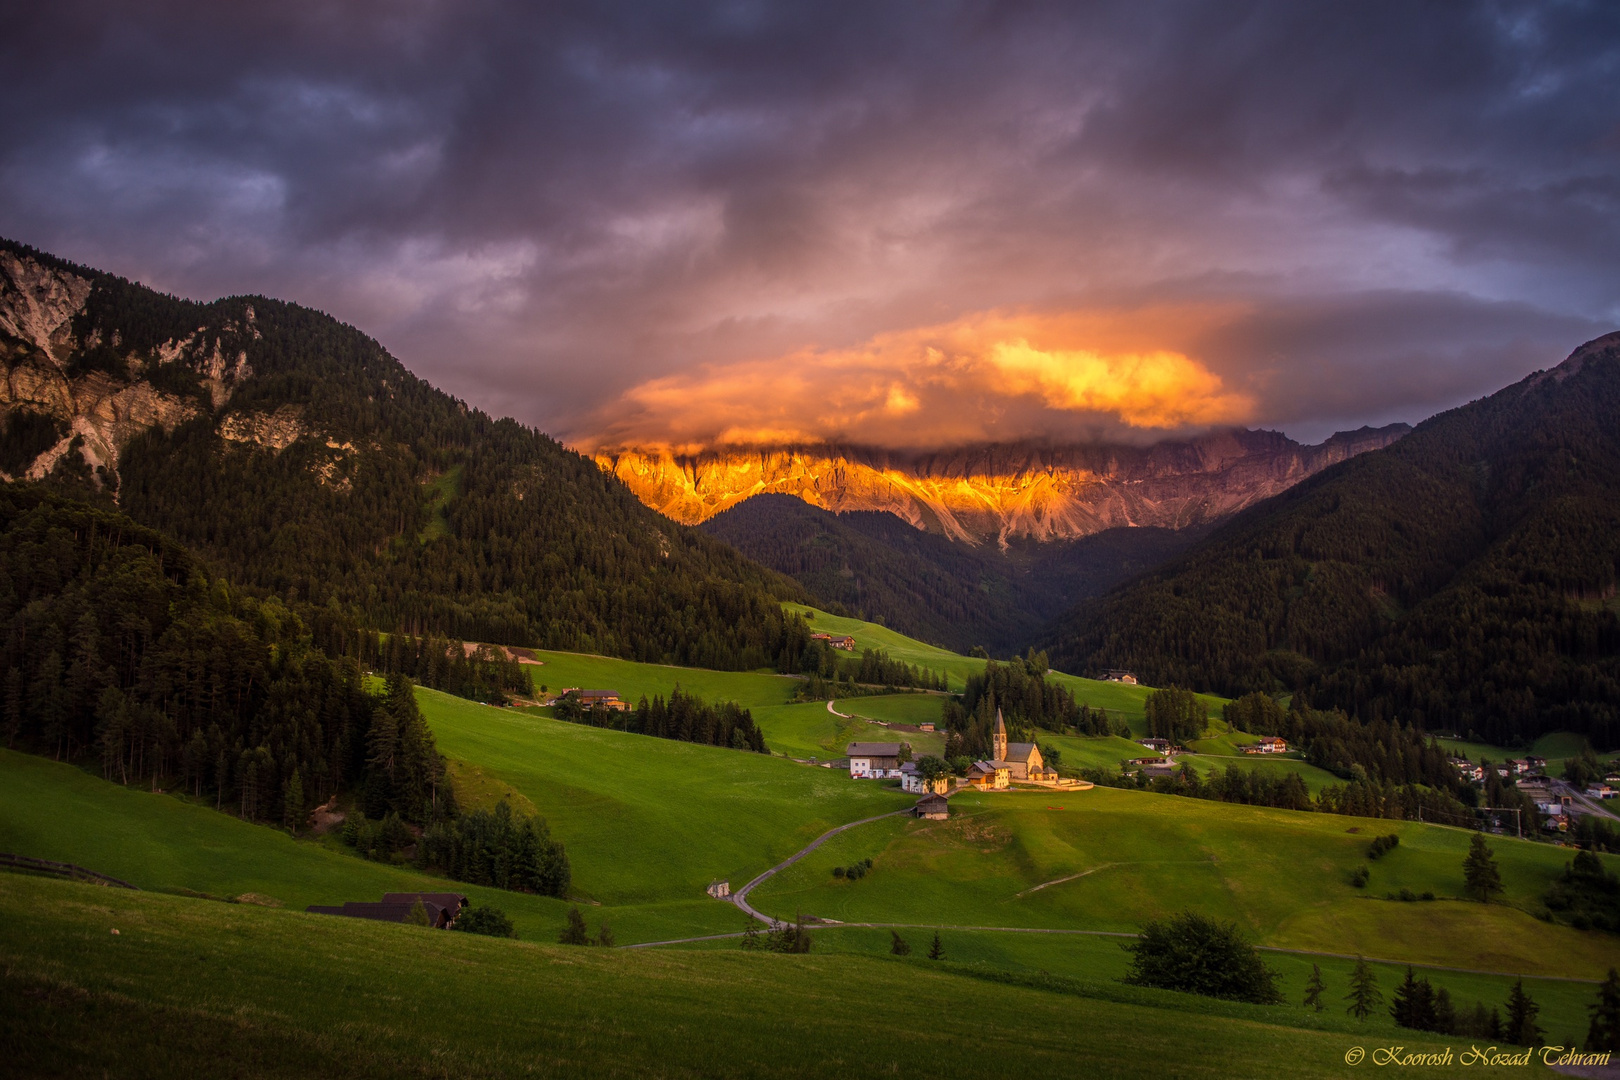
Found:
[[1260, 1006], [1283, 999], [1277, 993], [1277, 972], [1260, 962], [1234, 923], [1220, 923], [1192, 912], [1152, 921], [1129, 946], [1134, 986], [1179, 989], [1205, 997], [1252, 1001]]

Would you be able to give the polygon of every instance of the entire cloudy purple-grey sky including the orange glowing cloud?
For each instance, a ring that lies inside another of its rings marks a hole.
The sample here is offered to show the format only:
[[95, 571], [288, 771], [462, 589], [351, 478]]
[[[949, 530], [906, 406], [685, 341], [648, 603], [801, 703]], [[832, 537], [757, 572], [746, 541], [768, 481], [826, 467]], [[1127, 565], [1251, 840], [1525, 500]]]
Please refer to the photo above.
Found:
[[1620, 5], [0, 0], [0, 235], [583, 449], [1302, 440], [1620, 329]]

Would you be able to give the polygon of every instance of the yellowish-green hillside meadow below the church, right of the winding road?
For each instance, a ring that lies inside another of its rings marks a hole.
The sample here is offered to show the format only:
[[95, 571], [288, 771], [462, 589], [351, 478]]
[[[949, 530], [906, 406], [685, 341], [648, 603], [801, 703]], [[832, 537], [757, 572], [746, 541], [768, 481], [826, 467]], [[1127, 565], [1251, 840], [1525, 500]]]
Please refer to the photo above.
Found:
[[[1513, 907], [1536, 905], [1563, 868], [1562, 848], [1494, 840], [1508, 904], [1482, 905], [1452, 899], [1469, 840], [1455, 829], [1113, 789], [972, 792], [951, 808], [951, 821], [844, 832], [750, 902], [778, 916], [1103, 931], [1191, 908], [1290, 949], [1580, 978], [1620, 963], [1615, 938]], [[1369, 863], [1367, 844], [1383, 832], [1401, 845]], [[863, 879], [833, 878], [862, 858], [873, 860]], [[1372, 868], [1366, 889], [1349, 884], [1359, 866]], [[1442, 899], [1382, 899], [1401, 889]]]

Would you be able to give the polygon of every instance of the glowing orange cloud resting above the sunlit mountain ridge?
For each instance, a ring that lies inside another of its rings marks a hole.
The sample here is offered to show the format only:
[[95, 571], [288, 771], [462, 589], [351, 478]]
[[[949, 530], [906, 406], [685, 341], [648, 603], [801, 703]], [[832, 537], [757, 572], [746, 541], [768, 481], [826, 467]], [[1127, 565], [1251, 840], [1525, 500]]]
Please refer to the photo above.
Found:
[[1132, 343], [1150, 335], [1150, 319], [969, 316], [855, 348], [653, 379], [630, 387], [575, 442], [677, 452], [808, 442], [919, 449], [1118, 437], [1252, 416], [1254, 398], [1196, 358]]

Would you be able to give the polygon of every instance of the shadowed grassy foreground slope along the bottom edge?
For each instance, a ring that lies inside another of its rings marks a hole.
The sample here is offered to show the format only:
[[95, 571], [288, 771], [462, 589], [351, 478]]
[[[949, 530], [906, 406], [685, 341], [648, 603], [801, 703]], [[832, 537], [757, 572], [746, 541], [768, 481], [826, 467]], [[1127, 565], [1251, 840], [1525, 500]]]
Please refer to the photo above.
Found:
[[915, 959], [533, 946], [0, 876], [18, 1075], [1338, 1077], [1362, 1038], [1119, 991]]

